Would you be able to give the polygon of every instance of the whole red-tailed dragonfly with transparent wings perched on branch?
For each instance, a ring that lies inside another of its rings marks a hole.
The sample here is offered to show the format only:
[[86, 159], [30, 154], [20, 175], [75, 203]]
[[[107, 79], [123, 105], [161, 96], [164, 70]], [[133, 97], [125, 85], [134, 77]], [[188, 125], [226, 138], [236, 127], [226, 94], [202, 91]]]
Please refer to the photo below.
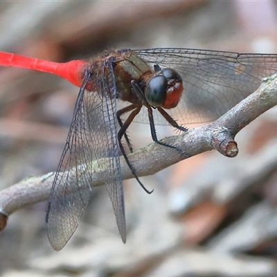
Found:
[[[69, 241], [91, 197], [93, 168], [102, 175], [123, 242], [126, 222], [120, 153], [139, 180], [123, 146], [132, 143], [133, 121], [172, 125], [215, 120], [277, 72], [277, 54], [234, 53], [190, 48], [104, 51], [91, 60], [57, 63], [0, 52], [0, 65], [53, 73], [80, 87], [73, 120], [46, 206], [48, 239], [56, 251]], [[186, 153], [182, 153], [186, 155]], [[104, 162], [105, 161], [105, 162]]]

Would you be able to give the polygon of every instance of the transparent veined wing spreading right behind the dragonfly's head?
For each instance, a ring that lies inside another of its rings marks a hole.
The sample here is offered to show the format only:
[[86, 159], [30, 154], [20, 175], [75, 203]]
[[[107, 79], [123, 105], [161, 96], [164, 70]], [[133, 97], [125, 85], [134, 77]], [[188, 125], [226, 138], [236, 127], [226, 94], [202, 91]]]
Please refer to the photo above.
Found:
[[[184, 82], [179, 105], [168, 113], [179, 124], [215, 120], [260, 86], [262, 77], [277, 72], [277, 55], [240, 54], [186, 48], [153, 48], [134, 51], [152, 67], [177, 70]], [[161, 116], [155, 123], [168, 124]], [[148, 122], [147, 113], [139, 122]]]

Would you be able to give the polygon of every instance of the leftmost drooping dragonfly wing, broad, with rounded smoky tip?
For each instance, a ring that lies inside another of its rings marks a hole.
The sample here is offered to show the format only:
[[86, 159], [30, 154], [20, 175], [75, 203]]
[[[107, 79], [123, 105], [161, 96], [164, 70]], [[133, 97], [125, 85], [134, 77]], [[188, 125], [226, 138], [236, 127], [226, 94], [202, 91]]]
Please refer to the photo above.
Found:
[[60, 250], [71, 238], [89, 203], [91, 191], [89, 166], [91, 142], [84, 105], [87, 74], [78, 94], [73, 120], [57, 168], [51, 194], [46, 206], [48, 239], [55, 250]]

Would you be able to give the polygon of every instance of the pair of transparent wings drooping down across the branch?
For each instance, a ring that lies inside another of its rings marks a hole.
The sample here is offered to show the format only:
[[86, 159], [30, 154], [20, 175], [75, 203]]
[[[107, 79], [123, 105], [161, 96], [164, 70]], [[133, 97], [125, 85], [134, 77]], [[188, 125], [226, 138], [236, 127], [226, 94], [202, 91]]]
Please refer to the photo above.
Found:
[[[86, 73], [75, 105], [73, 121], [46, 207], [46, 229], [60, 250], [78, 227], [91, 196], [93, 172], [100, 172], [125, 240], [123, 185], [117, 143], [116, 102], [111, 73]], [[109, 79], [109, 80], [108, 80]], [[92, 92], [84, 89], [91, 80]], [[103, 159], [107, 158], [107, 159]], [[97, 161], [97, 166], [95, 162]]]

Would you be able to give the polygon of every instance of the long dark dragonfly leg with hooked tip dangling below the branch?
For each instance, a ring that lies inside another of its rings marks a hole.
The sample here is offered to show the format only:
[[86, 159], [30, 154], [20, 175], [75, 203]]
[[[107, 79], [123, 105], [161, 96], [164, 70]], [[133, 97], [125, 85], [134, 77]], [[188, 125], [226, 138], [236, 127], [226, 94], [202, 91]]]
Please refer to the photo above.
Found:
[[123, 148], [123, 144], [121, 143], [121, 139], [123, 137], [124, 134], [126, 134], [126, 130], [127, 128], [129, 127], [129, 125], [132, 123], [132, 121], [134, 120], [134, 117], [139, 114], [139, 111], [141, 111], [141, 107], [142, 106], [138, 106], [138, 105], [130, 105], [129, 107], [135, 107], [135, 109], [133, 109], [133, 111], [131, 112], [131, 114], [129, 114], [127, 120], [125, 121], [125, 123], [123, 123], [122, 126], [120, 126], [120, 129], [118, 131], [118, 145], [119, 145], [119, 148], [123, 154], [123, 157], [127, 163], [127, 165], [129, 166], [129, 169], [131, 170], [132, 172], [132, 175], [134, 175], [134, 177], [136, 178], [136, 181], [139, 182], [139, 184], [141, 185], [141, 188], [143, 188], [143, 190], [146, 191], [146, 193], [150, 194], [153, 192], [153, 190], [148, 190], [147, 188], [145, 188], [145, 186], [143, 186], [143, 184], [141, 183], [141, 181], [139, 180], [139, 177], [136, 175], [136, 170], [134, 169], [134, 166], [132, 165], [132, 163], [129, 161], [128, 157], [127, 157], [127, 154]]

